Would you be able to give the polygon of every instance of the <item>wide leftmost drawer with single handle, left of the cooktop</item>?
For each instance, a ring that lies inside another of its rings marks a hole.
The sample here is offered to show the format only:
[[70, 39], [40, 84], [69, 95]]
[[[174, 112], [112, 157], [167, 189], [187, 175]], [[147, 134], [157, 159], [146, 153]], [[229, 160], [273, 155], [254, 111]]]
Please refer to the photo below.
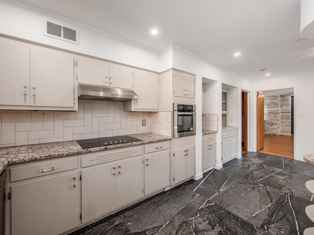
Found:
[[14, 167], [10, 169], [10, 181], [15, 182], [76, 168], [78, 168], [78, 158]]

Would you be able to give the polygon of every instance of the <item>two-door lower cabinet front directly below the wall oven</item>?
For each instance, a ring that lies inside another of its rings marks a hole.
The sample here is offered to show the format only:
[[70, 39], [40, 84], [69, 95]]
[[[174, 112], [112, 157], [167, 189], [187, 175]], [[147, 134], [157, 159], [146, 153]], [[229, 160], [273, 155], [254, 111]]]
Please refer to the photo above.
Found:
[[194, 145], [174, 149], [174, 184], [194, 176]]

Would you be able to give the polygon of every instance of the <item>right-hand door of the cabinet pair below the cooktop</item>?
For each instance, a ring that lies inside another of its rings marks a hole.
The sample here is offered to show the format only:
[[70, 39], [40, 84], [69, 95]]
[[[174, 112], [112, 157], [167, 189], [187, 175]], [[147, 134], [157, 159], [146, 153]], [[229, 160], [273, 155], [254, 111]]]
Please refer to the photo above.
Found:
[[143, 196], [143, 157], [117, 163], [117, 208]]

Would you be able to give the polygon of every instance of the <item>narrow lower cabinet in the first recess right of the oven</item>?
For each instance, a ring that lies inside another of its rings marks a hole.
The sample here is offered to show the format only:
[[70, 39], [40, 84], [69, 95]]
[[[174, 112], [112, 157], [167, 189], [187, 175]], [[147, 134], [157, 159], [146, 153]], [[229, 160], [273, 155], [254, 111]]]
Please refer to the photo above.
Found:
[[202, 137], [202, 170], [216, 164], [216, 134]]

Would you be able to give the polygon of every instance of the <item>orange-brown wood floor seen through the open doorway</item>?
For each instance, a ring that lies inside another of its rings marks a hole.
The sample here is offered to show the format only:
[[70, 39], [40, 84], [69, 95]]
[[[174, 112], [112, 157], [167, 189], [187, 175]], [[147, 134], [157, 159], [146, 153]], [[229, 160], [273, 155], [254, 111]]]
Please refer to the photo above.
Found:
[[264, 147], [259, 152], [293, 158], [293, 145], [293, 135], [279, 136], [265, 134]]

